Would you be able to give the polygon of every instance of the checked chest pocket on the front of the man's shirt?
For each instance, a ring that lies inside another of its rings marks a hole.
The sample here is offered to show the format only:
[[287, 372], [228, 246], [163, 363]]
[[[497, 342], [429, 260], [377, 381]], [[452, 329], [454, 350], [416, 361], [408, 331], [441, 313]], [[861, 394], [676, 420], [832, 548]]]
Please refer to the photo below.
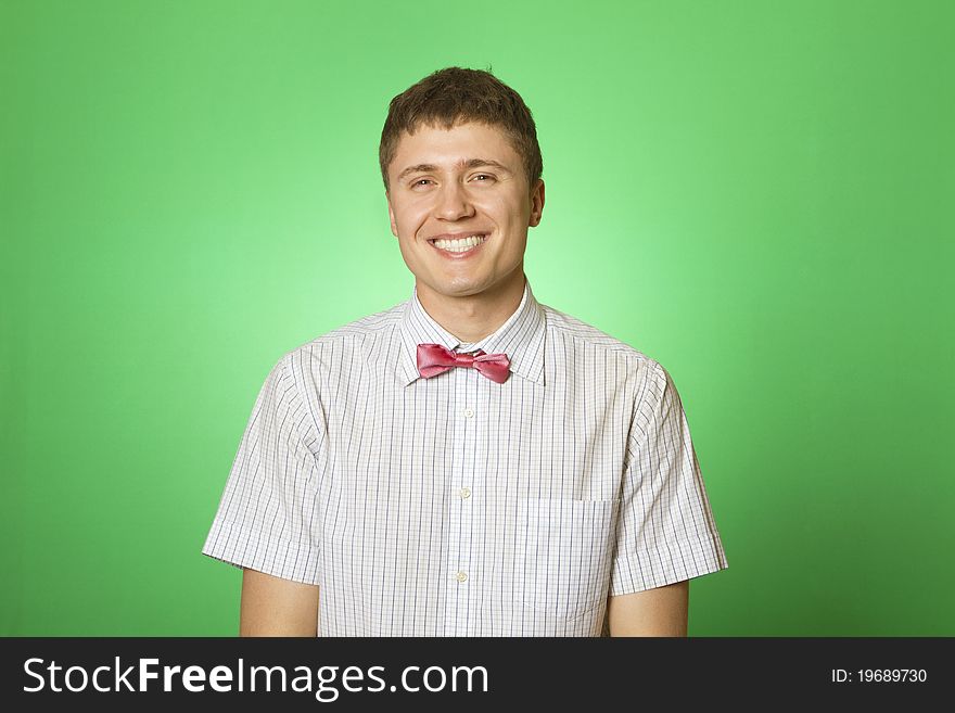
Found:
[[610, 585], [620, 500], [518, 501], [514, 594], [560, 619], [600, 606]]

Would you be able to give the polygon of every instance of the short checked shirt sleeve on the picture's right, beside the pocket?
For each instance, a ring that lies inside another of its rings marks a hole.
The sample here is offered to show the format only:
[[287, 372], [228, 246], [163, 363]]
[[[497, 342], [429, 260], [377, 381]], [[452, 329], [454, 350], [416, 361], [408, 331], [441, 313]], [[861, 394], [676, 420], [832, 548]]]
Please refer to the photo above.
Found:
[[679, 394], [652, 362], [628, 444], [610, 595], [726, 569]]

